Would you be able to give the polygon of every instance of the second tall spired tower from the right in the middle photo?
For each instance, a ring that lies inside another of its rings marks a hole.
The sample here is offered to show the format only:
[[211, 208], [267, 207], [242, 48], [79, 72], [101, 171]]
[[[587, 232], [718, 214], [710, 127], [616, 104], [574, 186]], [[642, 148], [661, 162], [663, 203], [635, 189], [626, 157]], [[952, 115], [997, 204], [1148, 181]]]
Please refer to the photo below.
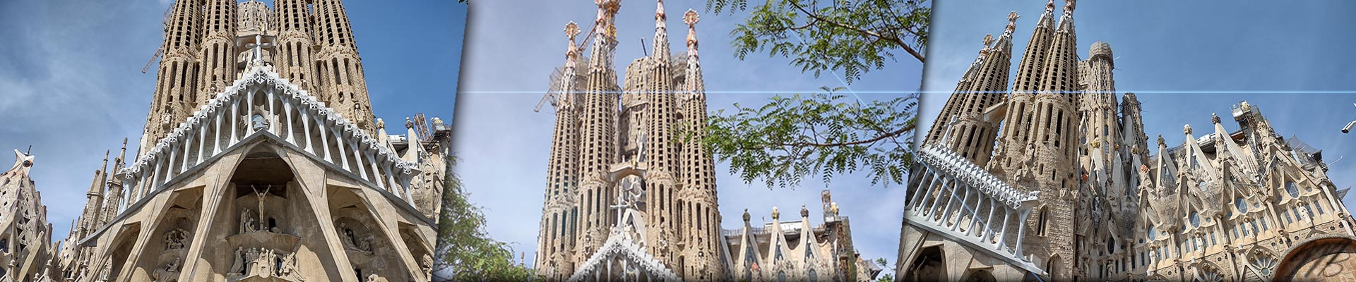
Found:
[[673, 245], [681, 239], [675, 233], [675, 201], [678, 186], [678, 148], [674, 144], [674, 119], [677, 111], [677, 98], [673, 85], [673, 66], [669, 54], [669, 27], [664, 24], [669, 16], [664, 14], [664, 1], [659, 0], [655, 8], [655, 41], [654, 54], [650, 57], [650, 70], [645, 72], [645, 102], [650, 106], [644, 110], [645, 122], [645, 205], [648, 214], [645, 225], [648, 229], [650, 254], [664, 263], [674, 263]]

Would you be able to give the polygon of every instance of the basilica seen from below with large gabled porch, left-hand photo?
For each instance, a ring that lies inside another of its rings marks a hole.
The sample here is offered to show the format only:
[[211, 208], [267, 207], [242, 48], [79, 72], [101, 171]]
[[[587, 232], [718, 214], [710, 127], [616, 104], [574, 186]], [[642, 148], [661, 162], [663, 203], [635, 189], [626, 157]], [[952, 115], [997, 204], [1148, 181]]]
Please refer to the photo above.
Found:
[[[179, 0], [133, 159], [60, 241], [0, 175], [0, 281], [428, 281], [447, 125], [374, 119], [339, 0]], [[104, 165], [108, 159], [104, 157]]]

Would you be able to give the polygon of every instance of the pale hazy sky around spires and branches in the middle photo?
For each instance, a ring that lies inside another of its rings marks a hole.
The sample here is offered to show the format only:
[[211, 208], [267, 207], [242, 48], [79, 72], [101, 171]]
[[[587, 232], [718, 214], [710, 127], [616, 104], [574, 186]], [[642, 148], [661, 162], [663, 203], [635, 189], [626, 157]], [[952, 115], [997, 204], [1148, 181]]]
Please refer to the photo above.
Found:
[[[843, 85], [835, 76], [822, 77], [801, 73], [788, 58], [750, 54], [740, 61], [734, 57], [730, 30], [747, 12], [712, 15], [705, 11], [705, 0], [664, 1], [669, 14], [669, 38], [673, 52], [686, 46], [686, 24], [682, 14], [689, 8], [701, 14], [697, 39], [701, 42], [701, 64], [706, 81], [708, 106], [712, 111], [731, 108], [734, 103], [763, 104], [773, 94], [814, 92], [819, 87]], [[465, 180], [472, 202], [485, 206], [490, 235], [514, 243], [530, 263], [537, 244], [541, 221], [541, 193], [545, 188], [545, 168], [551, 146], [555, 110], [546, 106], [533, 113], [533, 106], [548, 87], [551, 72], [564, 64], [567, 38], [561, 31], [567, 22], [589, 28], [597, 12], [593, 1], [476, 1], [472, 4], [466, 34], [466, 72], [454, 125], [454, 148], [462, 159], [457, 167]], [[655, 1], [624, 1], [617, 19], [617, 66], [621, 72], [632, 60], [651, 50], [655, 33]], [[640, 38], [647, 42], [640, 45]], [[885, 69], [872, 70], [854, 81], [853, 91], [865, 100], [891, 99], [903, 92], [917, 91], [922, 64], [903, 52]], [[898, 91], [896, 94], [880, 94]], [[742, 94], [730, 94], [742, 92]], [[865, 258], [894, 260], [899, 248], [899, 222], [903, 188], [871, 186], [864, 175], [839, 176], [826, 186], [816, 178], [805, 179], [795, 190], [769, 190], [761, 184], [746, 184], [725, 174], [728, 167], [717, 164], [720, 213], [727, 229], [739, 228], [743, 209], [749, 209], [753, 224], [772, 220], [772, 207], [795, 214], [800, 205], [810, 207], [811, 218], [822, 218], [818, 207], [819, 191], [829, 187], [841, 212], [852, 217], [853, 241]], [[822, 224], [822, 220], [812, 220]]]

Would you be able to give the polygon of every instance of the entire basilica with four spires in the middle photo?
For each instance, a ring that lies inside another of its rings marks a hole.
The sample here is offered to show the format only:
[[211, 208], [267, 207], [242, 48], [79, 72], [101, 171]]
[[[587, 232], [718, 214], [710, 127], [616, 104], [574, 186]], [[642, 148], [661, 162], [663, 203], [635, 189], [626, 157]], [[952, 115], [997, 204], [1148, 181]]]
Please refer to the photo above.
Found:
[[[696, 11], [683, 15], [686, 53], [670, 54], [664, 3], [654, 50], [617, 85], [614, 18], [621, 0], [595, 0], [598, 15], [552, 76], [556, 108], [534, 268], [551, 281], [858, 281], [879, 267], [860, 259], [848, 217], [823, 191], [823, 224], [799, 220], [721, 229], [712, 155], [693, 141], [706, 121]], [[591, 39], [591, 41], [590, 41]], [[682, 138], [681, 133], [696, 133]]]

